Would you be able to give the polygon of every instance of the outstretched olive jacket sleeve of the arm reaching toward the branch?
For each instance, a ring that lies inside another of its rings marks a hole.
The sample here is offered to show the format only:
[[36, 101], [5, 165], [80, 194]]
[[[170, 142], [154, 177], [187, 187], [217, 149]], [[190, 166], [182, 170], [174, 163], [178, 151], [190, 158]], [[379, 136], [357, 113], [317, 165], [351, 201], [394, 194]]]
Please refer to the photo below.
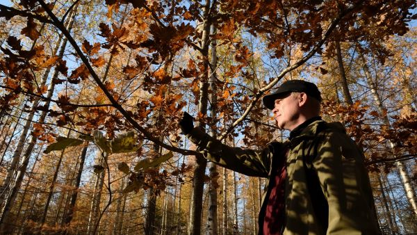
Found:
[[197, 151], [201, 152], [209, 161], [243, 175], [268, 177], [272, 146], [259, 151], [230, 147], [209, 136], [198, 127], [195, 127], [187, 137], [197, 145]]

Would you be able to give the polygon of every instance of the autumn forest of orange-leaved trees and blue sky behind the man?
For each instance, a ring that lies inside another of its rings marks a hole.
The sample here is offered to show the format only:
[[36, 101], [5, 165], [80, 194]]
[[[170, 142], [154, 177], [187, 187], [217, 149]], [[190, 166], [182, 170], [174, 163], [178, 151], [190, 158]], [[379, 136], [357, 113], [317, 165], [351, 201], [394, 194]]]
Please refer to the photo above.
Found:
[[260, 99], [318, 84], [384, 234], [417, 234], [414, 0], [0, 1], [0, 234], [256, 234], [265, 179], [207, 163], [286, 140]]

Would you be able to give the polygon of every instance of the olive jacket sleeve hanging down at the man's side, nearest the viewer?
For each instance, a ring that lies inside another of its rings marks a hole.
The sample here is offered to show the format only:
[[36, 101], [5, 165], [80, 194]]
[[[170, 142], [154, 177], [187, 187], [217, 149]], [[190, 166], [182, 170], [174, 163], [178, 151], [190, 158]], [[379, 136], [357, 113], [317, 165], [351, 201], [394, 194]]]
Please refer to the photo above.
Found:
[[327, 234], [378, 234], [375, 204], [362, 156], [345, 133], [326, 133], [318, 145], [313, 168], [329, 205]]

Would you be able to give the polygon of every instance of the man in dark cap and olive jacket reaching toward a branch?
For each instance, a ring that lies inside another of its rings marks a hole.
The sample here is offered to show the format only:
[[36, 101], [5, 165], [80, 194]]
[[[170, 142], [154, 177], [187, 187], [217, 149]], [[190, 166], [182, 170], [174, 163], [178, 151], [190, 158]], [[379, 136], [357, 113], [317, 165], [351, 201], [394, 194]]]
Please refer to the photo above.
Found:
[[229, 147], [184, 113], [181, 130], [209, 161], [244, 175], [268, 178], [259, 234], [379, 234], [363, 155], [340, 122], [321, 120], [321, 96], [307, 81], [284, 82], [263, 97], [284, 143], [261, 151]]

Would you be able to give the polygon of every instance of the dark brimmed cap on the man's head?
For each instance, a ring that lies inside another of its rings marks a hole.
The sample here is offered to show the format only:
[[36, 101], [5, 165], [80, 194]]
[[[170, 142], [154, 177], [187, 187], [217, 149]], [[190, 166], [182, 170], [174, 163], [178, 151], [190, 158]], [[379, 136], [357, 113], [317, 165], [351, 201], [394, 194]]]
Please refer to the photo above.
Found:
[[265, 95], [262, 98], [263, 105], [265, 105], [266, 108], [274, 109], [275, 99], [283, 97], [289, 92], [304, 92], [309, 97], [313, 97], [319, 102], [322, 100], [320, 91], [314, 83], [302, 80], [290, 80], [282, 83], [281, 86], [279, 86], [272, 93]]

